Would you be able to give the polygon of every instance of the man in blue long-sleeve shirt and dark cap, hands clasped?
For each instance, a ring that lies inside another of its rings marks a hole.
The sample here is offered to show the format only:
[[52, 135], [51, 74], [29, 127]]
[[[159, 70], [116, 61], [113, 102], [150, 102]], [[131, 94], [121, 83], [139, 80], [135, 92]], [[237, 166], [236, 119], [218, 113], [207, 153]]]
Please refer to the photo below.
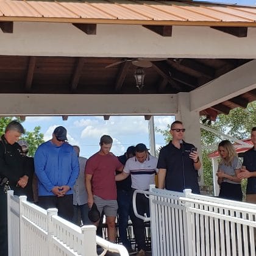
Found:
[[45, 209], [57, 208], [59, 216], [71, 221], [72, 188], [79, 174], [79, 162], [73, 146], [66, 140], [66, 129], [56, 127], [52, 139], [38, 147], [34, 160], [38, 177], [38, 204]]

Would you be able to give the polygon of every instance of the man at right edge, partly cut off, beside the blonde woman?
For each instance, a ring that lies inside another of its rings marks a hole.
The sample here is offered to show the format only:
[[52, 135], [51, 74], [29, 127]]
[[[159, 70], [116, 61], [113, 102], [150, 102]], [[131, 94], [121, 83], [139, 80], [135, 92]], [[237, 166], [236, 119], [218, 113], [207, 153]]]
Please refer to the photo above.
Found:
[[254, 146], [244, 153], [240, 179], [247, 178], [246, 202], [256, 204], [256, 127], [252, 128], [251, 140]]

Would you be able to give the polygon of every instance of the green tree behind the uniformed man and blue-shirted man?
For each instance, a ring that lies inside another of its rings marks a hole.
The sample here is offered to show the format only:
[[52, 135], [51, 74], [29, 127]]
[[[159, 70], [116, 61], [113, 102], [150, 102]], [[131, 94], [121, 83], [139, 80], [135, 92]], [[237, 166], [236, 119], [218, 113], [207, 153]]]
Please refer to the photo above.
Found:
[[[20, 120], [20, 118], [15, 117], [2, 117], [0, 118], [0, 133], [1, 135], [5, 132], [5, 127], [7, 124], [10, 123], [10, 121], [16, 120], [20, 123], [23, 123], [23, 121]], [[43, 140], [43, 133], [40, 132], [41, 127], [37, 126], [34, 128], [32, 132], [26, 131], [26, 133], [21, 137], [21, 140], [27, 141], [29, 144], [29, 155], [34, 156], [36, 149], [38, 146], [44, 142]]]

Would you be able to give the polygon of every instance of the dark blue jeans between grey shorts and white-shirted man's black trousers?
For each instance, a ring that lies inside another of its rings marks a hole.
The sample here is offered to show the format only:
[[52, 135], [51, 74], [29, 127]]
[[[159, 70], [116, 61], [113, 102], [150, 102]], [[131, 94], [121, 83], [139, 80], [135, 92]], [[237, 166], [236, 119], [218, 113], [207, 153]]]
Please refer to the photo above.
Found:
[[130, 241], [127, 239], [127, 225], [129, 219], [130, 210], [132, 210], [132, 191], [118, 190], [118, 230], [122, 244], [130, 249]]

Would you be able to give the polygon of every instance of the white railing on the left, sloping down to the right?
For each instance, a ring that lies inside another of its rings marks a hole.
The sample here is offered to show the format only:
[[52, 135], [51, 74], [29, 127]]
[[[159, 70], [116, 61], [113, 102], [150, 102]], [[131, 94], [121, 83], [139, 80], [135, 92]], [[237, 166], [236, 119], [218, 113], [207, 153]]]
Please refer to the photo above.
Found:
[[96, 236], [95, 226], [78, 227], [57, 216], [57, 209], [44, 210], [8, 191], [8, 238], [10, 256], [94, 256], [96, 244], [107, 251], [128, 256], [124, 246]]

